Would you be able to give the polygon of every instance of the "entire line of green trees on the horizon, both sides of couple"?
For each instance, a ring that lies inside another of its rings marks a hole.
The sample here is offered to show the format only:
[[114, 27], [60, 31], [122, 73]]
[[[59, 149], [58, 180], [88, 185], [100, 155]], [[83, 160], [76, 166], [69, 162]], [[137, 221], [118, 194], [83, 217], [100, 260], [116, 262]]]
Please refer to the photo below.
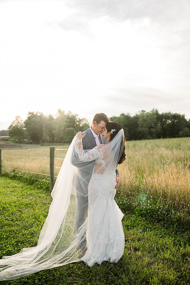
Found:
[[[134, 116], [122, 113], [109, 119], [121, 124], [128, 141], [190, 136], [190, 120], [178, 113], [160, 114], [157, 109], [153, 109], [150, 112], [142, 110]], [[9, 136], [20, 144], [26, 140], [36, 144], [71, 143], [78, 131], [85, 131], [88, 127], [86, 119], [59, 109], [55, 117], [29, 112], [23, 121], [17, 116], [8, 131]]]

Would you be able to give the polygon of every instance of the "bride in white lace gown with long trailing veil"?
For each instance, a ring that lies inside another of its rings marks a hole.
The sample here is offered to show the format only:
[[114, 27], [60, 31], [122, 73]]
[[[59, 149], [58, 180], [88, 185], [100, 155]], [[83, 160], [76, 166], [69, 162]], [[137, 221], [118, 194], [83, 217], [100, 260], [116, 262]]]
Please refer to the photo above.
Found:
[[[89, 151], [83, 150], [85, 135], [79, 132], [73, 138], [52, 190], [53, 200], [37, 246], [3, 257], [0, 280], [17, 279], [80, 260], [93, 266], [104, 260], [117, 262], [122, 257], [123, 213], [114, 196], [115, 169], [125, 160], [125, 137], [121, 125], [116, 122], [107, 123], [104, 135], [107, 143]], [[79, 167], [72, 165], [73, 155], [83, 162]], [[103, 174], [94, 172], [89, 173], [89, 177], [81, 176], [81, 169], [87, 171], [95, 164], [102, 166]], [[80, 186], [89, 182], [88, 215], [77, 232], [74, 231], [76, 181]], [[81, 253], [79, 245], [84, 239], [87, 244]]]

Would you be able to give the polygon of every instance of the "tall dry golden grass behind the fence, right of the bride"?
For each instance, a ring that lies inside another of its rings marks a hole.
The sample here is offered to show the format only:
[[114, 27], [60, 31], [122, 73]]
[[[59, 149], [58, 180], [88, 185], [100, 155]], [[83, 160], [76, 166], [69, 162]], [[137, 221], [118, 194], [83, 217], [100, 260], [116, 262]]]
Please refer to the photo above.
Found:
[[189, 150], [190, 138], [127, 142], [126, 160], [119, 166], [121, 196], [136, 201], [144, 194], [189, 209]]

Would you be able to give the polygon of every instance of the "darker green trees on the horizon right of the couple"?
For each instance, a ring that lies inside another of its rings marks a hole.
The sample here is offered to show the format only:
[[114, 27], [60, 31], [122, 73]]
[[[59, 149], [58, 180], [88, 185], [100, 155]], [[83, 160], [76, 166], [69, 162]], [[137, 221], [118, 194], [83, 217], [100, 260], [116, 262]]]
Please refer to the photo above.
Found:
[[122, 125], [128, 141], [190, 136], [190, 120], [185, 119], [184, 114], [160, 114], [157, 109], [153, 109], [150, 112], [142, 110], [133, 117], [122, 113], [110, 120]]

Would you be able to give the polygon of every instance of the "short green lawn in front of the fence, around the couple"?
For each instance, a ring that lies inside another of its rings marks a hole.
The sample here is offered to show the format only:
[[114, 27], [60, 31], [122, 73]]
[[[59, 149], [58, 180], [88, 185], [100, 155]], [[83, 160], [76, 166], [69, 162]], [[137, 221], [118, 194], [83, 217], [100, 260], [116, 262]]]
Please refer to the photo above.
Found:
[[[0, 177], [0, 258], [37, 244], [50, 203], [50, 194], [38, 182], [29, 185]], [[1, 284], [190, 284], [189, 220], [118, 203], [125, 234], [124, 255], [118, 263], [88, 267], [76, 262]]]

